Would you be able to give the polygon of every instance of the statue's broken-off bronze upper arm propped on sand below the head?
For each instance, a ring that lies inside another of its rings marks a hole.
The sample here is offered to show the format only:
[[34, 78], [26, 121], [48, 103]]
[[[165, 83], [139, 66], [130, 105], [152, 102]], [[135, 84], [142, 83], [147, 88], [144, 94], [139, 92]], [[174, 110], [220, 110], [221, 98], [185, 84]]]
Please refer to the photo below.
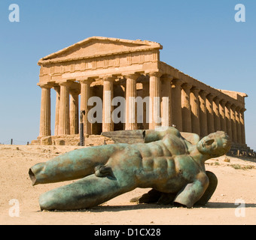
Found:
[[204, 173], [199, 173], [194, 182], [187, 184], [175, 197], [174, 202], [191, 208], [205, 193], [209, 185], [209, 178]]

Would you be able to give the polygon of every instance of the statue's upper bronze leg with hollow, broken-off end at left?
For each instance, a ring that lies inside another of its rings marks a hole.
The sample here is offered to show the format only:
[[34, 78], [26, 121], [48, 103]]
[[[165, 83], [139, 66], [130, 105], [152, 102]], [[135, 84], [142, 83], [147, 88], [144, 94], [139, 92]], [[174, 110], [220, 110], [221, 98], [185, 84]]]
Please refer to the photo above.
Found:
[[94, 168], [104, 165], [111, 154], [122, 145], [100, 145], [69, 151], [45, 163], [38, 163], [29, 169], [32, 184], [46, 184], [84, 178], [93, 174]]

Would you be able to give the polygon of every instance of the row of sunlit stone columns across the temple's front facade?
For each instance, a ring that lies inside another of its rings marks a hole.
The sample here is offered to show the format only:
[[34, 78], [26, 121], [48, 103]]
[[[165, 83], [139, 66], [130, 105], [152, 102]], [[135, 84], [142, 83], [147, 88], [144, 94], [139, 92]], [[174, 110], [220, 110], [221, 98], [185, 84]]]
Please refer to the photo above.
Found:
[[[139, 74], [127, 74], [126, 78], [126, 130], [137, 129], [137, 110], [135, 99], [137, 97], [136, 83]], [[102, 131], [114, 130], [114, 123], [111, 119], [113, 111], [112, 99], [114, 95], [115, 78], [112, 76], [103, 77], [103, 109], [102, 109]], [[160, 74], [150, 74], [149, 80], [149, 128], [155, 129], [161, 125], [160, 115], [163, 113], [163, 124], [169, 125], [170, 114], [170, 80], [165, 81], [165, 97], [160, 102], [161, 83]], [[87, 115], [89, 112], [88, 100], [90, 96], [90, 84], [93, 79], [81, 80], [81, 107], [84, 112], [84, 133], [91, 134], [91, 124]], [[56, 115], [55, 115], [55, 135], [69, 135], [78, 133], [78, 95], [79, 92], [70, 90], [72, 82], [59, 83], [58, 86], [41, 85], [41, 127], [39, 136], [50, 136], [50, 89], [56, 91]], [[70, 96], [70, 97], [69, 97]]]

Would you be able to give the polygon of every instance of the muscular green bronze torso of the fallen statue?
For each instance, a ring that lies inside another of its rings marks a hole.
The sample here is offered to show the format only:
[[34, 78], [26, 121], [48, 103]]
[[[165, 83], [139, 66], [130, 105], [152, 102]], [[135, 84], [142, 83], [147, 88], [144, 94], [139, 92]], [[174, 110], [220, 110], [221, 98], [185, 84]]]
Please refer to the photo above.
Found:
[[[162, 140], [126, 145], [111, 157], [126, 175], [134, 175], [138, 187], [153, 187], [161, 192], [177, 192], [203, 169], [190, 157], [184, 139], [167, 134]], [[116, 164], [111, 164], [116, 165]]]

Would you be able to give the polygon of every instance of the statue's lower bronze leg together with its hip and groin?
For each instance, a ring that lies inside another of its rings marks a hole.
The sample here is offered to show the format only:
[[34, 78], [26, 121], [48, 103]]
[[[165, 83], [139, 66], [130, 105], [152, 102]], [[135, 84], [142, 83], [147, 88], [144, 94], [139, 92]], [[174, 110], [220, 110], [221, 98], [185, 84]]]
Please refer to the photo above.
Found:
[[[122, 153], [120, 152], [120, 155]], [[133, 167], [118, 163], [120, 155], [110, 158], [105, 165], [95, 167], [95, 174], [72, 184], [58, 187], [39, 198], [42, 210], [75, 210], [91, 208], [120, 194], [134, 190], [136, 177]], [[129, 163], [129, 160], [127, 160]], [[112, 164], [111, 164], [112, 163]]]

